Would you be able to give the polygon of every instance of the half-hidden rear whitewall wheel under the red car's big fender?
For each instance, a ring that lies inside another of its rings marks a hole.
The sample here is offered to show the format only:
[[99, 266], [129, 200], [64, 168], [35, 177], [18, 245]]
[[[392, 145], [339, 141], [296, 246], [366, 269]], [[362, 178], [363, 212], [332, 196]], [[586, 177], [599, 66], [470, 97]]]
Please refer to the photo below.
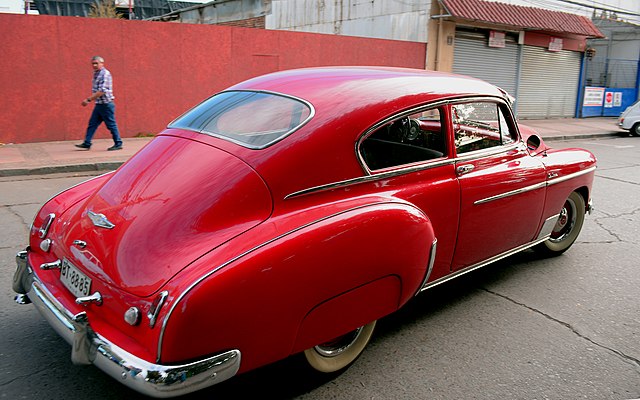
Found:
[[369, 343], [375, 326], [376, 321], [370, 322], [346, 335], [305, 350], [307, 363], [316, 371], [325, 373], [346, 368], [358, 358]]

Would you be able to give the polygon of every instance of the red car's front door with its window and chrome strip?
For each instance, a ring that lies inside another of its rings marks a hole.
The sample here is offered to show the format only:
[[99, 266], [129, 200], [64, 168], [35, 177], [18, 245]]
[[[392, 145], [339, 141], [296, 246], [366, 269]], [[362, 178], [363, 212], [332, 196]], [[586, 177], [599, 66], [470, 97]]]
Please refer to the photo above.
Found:
[[460, 222], [452, 270], [471, 267], [534, 239], [546, 172], [519, 140], [509, 107], [498, 99], [450, 106]]

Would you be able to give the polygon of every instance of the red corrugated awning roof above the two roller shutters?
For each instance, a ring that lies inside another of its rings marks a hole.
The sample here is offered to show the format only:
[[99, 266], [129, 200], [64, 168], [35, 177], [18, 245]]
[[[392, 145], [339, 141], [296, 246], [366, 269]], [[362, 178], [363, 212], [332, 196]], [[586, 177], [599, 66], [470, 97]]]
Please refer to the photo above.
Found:
[[587, 17], [483, 0], [440, 0], [452, 17], [522, 29], [604, 37]]

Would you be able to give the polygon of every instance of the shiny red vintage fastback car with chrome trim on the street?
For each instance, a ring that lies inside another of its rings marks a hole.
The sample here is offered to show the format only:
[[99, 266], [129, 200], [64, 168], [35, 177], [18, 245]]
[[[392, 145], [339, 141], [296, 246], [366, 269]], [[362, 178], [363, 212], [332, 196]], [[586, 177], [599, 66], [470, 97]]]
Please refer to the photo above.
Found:
[[480, 80], [278, 72], [49, 200], [13, 288], [74, 363], [151, 396], [296, 353], [335, 372], [420, 292], [524, 249], [567, 250], [595, 168], [520, 129]]

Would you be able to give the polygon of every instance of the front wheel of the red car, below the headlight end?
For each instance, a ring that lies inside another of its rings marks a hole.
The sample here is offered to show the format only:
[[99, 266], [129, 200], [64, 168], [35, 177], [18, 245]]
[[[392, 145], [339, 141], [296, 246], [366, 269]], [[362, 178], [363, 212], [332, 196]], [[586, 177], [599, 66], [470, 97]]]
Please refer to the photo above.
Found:
[[584, 198], [577, 192], [571, 193], [560, 210], [560, 216], [551, 236], [535, 249], [549, 256], [564, 253], [578, 238], [585, 211]]

